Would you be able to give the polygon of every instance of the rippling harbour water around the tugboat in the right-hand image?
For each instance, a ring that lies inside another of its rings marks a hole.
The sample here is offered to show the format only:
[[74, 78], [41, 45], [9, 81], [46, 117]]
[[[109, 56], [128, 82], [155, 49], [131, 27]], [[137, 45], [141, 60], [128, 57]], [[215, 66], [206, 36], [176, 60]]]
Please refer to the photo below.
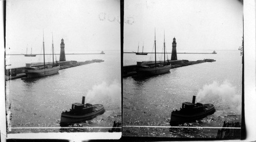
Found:
[[[180, 126], [222, 127], [224, 121], [241, 122], [240, 52], [177, 55], [178, 59], [189, 61], [215, 59], [216, 62], [175, 68], [170, 73], [153, 77], [123, 78], [123, 135], [215, 138], [218, 129], [125, 127], [170, 126], [172, 110], [180, 109], [182, 102], [191, 102], [193, 95], [197, 96], [196, 102], [214, 104], [216, 112], [200, 121]], [[126, 53], [123, 56], [124, 65], [147, 61], [150, 56], [154, 57], [154, 54]], [[170, 54], [168, 58], [170, 59]]]

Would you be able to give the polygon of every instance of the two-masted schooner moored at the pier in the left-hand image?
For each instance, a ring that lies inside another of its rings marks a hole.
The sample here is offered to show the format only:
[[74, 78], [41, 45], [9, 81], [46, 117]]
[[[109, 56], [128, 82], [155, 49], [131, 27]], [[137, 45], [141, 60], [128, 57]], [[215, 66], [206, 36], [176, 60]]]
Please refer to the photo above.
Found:
[[56, 74], [59, 71], [59, 64], [56, 61], [56, 64], [54, 64], [54, 50], [53, 50], [53, 39], [52, 39], [52, 65], [46, 66], [45, 63], [45, 39], [44, 39], [44, 33], [42, 37], [42, 46], [44, 48], [44, 66], [42, 67], [32, 67], [31, 64], [26, 64], [26, 67], [23, 70], [23, 73], [27, 74], [27, 78], [36, 78], [36, 77], [42, 77], [47, 75]]

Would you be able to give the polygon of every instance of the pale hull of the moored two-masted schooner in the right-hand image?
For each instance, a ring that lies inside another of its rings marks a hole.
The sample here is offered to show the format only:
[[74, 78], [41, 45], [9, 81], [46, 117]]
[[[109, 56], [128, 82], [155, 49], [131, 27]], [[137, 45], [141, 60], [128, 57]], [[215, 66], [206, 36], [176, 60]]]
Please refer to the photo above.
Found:
[[136, 71], [140, 76], [157, 75], [157, 74], [170, 72], [170, 67], [171, 65], [165, 65], [165, 66], [153, 67], [153, 68], [141, 66], [141, 67], [137, 67]]

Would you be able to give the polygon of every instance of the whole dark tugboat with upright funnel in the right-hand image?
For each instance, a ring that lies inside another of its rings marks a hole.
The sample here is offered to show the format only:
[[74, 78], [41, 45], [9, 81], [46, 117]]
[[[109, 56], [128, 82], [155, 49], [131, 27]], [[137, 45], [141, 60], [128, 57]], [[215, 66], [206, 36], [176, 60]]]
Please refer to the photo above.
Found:
[[183, 102], [180, 110], [173, 110], [170, 117], [170, 125], [174, 126], [184, 122], [200, 120], [215, 112], [213, 104], [195, 103], [196, 96], [193, 96], [192, 103]]

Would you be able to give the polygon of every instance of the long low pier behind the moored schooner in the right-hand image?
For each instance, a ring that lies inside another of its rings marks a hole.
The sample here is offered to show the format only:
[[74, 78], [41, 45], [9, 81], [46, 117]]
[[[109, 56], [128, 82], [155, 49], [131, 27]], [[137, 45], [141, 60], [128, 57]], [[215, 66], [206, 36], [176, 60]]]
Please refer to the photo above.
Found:
[[[179, 68], [179, 67], [184, 67], [184, 66], [189, 66], [189, 65], [195, 65], [195, 64], [200, 64], [200, 63], [205, 63], [205, 62], [215, 62], [216, 60], [213, 59], [204, 59], [204, 60], [198, 60], [198, 61], [188, 61], [188, 60], [175, 60], [171, 61], [168, 60], [166, 62], [170, 62], [172, 67], [170, 69], [174, 68]], [[142, 61], [142, 62], [137, 62], [137, 64], [142, 64], [144, 66], [151, 66], [154, 65], [155, 62], [153, 61]], [[157, 61], [157, 64], [161, 64], [163, 61]], [[129, 65], [129, 66], [123, 66], [123, 77], [129, 77], [129, 76], [135, 76], [137, 75], [136, 69], [138, 65]]]

